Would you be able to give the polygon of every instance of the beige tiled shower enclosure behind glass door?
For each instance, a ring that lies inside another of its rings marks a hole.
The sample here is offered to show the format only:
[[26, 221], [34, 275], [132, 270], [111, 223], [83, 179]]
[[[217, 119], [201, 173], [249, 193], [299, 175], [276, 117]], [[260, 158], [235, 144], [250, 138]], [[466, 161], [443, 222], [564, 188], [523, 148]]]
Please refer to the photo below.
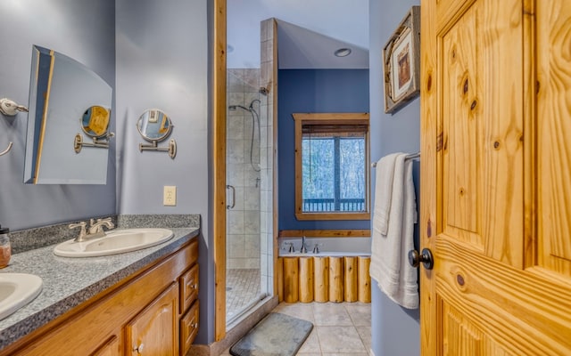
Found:
[[[260, 69], [228, 69], [227, 325], [269, 295], [268, 98]], [[262, 198], [265, 197], [265, 198]]]

